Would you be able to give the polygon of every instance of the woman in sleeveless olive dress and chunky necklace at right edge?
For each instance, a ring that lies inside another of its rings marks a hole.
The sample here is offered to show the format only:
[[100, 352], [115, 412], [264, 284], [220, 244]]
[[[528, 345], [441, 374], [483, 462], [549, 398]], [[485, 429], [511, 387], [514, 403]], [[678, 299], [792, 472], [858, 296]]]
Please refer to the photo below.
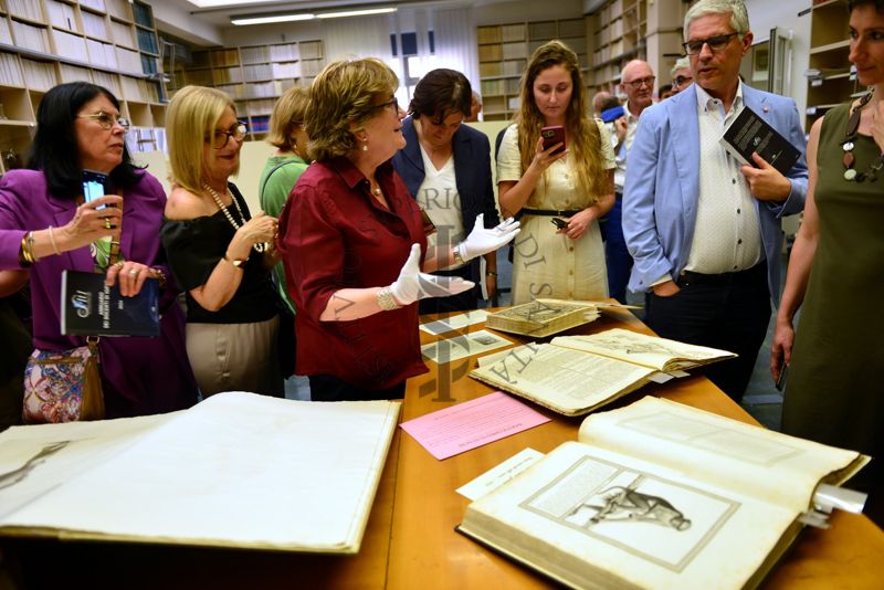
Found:
[[[852, 0], [850, 61], [869, 92], [817, 119], [770, 370], [790, 367], [782, 430], [875, 460], [856, 480], [884, 514], [884, 0]], [[794, 316], [801, 308], [800, 322]], [[865, 482], [865, 483], [863, 483]]]

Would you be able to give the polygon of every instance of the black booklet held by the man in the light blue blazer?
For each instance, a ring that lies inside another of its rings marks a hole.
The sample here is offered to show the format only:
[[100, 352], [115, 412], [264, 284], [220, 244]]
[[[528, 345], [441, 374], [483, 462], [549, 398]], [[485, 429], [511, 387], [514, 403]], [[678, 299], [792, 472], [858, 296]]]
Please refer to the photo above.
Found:
[[757, 151], [782, 175], [786, 175], [801, 157], [801, 151], [797, 147], [748, 106], [744, 106], [737, 118], [728, 125], [720, 141], [725, 149], [743, 164], [758, 168], [753, 160], [753, 151]]

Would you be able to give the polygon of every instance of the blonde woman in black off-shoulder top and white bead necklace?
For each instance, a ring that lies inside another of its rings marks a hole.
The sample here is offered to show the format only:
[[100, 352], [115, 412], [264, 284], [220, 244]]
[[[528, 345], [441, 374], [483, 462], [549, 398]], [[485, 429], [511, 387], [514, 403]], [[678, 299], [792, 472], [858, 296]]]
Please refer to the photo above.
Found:
[[203, 396], [283, 396], [277, 297], [270, 270], [276, 218], [252, 217], [229, 181], [246, 127], [223, 92], [186, 86], [166, 114], [170, 177], [162, 245], [187, 294], [187, 354]]

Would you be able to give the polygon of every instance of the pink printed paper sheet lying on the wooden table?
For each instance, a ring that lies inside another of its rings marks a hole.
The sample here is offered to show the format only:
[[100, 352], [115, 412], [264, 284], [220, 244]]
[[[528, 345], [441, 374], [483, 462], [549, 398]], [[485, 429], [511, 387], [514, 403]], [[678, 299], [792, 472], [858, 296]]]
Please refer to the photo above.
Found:
[[402, 422], [400, 426], [430, 454], [443, 460], [545, 422], [549, 418], [497, 391]]

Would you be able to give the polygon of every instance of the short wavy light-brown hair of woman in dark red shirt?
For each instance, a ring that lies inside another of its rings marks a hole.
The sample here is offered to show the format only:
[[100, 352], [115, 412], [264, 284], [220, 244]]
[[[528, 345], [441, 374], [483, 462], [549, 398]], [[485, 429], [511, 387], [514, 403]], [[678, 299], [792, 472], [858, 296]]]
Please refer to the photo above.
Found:
[[377, 98], [386, 99], [398, 87], [393, 71], [376, 57], [328, 64], [311, 85], [305, 116], [311, 159], [325, 161], [354, 151], [354, 131], [377, 114]]

